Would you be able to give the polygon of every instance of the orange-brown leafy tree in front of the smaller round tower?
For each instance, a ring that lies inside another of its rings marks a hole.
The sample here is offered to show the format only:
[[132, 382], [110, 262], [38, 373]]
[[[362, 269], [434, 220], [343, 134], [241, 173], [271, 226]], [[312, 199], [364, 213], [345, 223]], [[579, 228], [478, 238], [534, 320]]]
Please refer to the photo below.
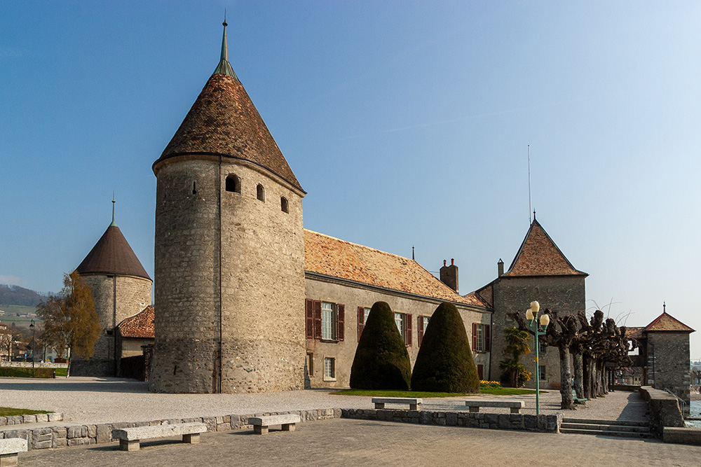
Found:
[[78, 272], [64, 274], [61, 294], [41, 302], [36, 312], [44, 319], [43, 339], [60, 356], [68, 354], [68, 375], [73, 356], [93, 356], [102, 328], [95, 312], [93, 292]]

